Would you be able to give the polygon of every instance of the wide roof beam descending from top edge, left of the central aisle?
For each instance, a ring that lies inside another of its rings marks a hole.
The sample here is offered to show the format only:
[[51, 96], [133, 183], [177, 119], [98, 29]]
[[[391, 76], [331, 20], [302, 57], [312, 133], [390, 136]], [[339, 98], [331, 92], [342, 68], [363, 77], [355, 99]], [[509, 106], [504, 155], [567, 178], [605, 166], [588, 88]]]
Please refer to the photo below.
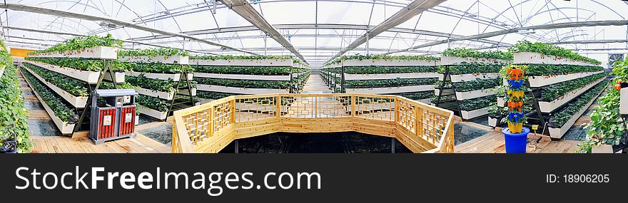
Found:
[[281, 44], [281, 46], [285, 47], [290, 52], [294, 53], [294, 55], [300, 58], [301, 61], [310, 65], [308, 61], [305, 61], [305, 58], [303, 58], [303, 55], [301, 55], [301, 53], [297, 51], [297, 49], [292, 45], [292, 43], [290, 43], [290, 41], [285, 39], [281, 35], [281, 33], [279, 33], [277, 29], [273, 27], [273, 25], [270, 25], [270, 23], [268, 23], [268, 21], [264, 19], [264, 16], [262, 16], [258, 11], [253, 9], [253, 6], [250, 6], [250, 4], [248, 4], [248, 1], [246, 0], [220, 0], [220, 1], [223, 2], [223, 4], [225, 4], [226, 6], [228, 6], [229, 9], [231, 9], [232, 11], [235, 11], [236, 14], [240, 15], [243, 19], [246, 19], [247, 21], [249, 21], [250, 24], [253, 24], [253, 26], [259, 28], [260, 31], [263, 31], [264, 33], [266, 33], [268, 36], [270, 36], [270, 38], [273, 38], [275, 41]]

